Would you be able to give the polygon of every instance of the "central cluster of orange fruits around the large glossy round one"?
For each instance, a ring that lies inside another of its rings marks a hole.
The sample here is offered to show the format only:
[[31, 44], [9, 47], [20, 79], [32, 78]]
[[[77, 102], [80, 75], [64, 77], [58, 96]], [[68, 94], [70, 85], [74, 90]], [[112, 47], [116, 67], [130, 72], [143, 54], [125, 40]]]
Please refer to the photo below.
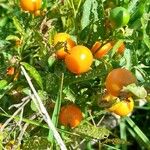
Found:
[[[58, 59], [64, 59], [66, 67], [74, 74], [82, 74], [90, 70], [93, 55], [95, 58], [102, 58], [114, 45], [114, 42], [106, 44], [96, 42], [90, 50], [83, 45], [76, 45], [67, 33], [58, 33], [54, 36], [54, 45], [56, 46], [59, 43], [62, 43], [62, 46], [57, 49], [56, 56]], [[118, 48], [118, 52], [123, 53], [124, 50], [125, 45], [122, 43]]]

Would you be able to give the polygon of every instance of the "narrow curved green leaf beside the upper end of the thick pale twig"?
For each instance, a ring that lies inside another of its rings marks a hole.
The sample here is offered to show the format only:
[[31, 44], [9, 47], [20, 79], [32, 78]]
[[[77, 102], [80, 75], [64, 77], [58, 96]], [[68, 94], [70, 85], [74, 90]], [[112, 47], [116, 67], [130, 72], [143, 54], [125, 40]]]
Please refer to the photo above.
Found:
[[23, 65], [25, 69], [29, 71], [31, 77], [36, 81], [40, 88], [43, 89], [43, 81], [39, 72], [33, 66], [29, 65], [26, 62], [21, 62], [21, 65]]

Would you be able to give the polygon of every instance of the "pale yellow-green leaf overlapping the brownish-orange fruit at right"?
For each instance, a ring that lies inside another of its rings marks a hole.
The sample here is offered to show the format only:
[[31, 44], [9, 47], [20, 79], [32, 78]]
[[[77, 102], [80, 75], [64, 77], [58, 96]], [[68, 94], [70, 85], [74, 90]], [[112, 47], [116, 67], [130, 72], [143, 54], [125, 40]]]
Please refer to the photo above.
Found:
[[123, 87], [123, 91], [129, 91], [138, 98], [146, 98], [147, 96], [147, 91], [145, 90], [145, 88], [143, 86], [137, 86], [135, 83]]

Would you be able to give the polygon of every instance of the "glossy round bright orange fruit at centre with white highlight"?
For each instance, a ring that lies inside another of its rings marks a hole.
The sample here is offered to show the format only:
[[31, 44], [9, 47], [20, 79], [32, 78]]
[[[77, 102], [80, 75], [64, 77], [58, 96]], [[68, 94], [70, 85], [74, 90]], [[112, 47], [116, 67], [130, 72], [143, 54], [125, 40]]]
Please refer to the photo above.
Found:
[[65, 57], [65, 64], [69, 71], [75, 74], [87, 72], [93, 62], [91, 51], [82, 45], [73, 47]]

